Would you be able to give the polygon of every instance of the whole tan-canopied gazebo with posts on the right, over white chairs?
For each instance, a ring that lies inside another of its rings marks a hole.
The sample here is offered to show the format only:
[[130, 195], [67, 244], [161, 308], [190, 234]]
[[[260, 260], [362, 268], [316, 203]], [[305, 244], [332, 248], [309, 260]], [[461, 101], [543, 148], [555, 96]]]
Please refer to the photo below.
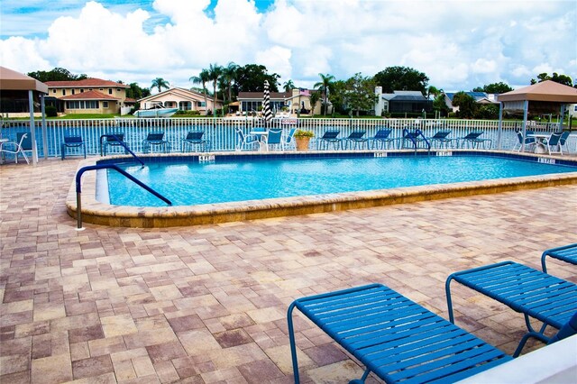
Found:
[[[552, 112], [561, 111], [559, 121], [559, 130], [563, 126], [563, 112], [566, 104], [577, 103], [577, 88], [564, 86], [551, 80], [545, 80], [541, 83], [529, 87], [519, 88], [502, 95], [497, 96], [499, 101], [499, 146], [501, 148], [501, 133], [503, 110], [514, 109], [523, 111], [523, 137], [527, 131], [527, 114], [529, 107], [533, 111]], [[525, 147], [525, 145], [523, 145]], [[522, 148], [521, 151], [525, 150]]]

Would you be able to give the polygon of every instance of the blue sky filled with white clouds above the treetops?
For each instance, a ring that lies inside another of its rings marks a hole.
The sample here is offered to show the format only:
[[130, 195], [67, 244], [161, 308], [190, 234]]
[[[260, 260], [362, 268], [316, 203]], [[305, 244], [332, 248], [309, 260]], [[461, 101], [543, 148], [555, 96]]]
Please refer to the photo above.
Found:
[[446, 91], [541, 72], [577, 82], [574, 0], [3, 0], [2, 65], [191, 87], [211, 63], [262, 64], [312, 87], [390, 66]]

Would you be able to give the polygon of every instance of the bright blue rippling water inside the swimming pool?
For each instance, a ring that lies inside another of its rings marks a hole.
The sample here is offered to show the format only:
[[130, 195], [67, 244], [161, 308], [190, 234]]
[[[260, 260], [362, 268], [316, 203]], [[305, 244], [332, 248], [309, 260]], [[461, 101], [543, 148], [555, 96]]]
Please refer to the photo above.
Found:
[[[482, 156], [177, 162], [144, 168], [131, 164], [124, 169], [168, 197], [173, 206], [577, 171], [576, 167]], [[108, 171], [108, 186], [110, 204], [166, 206], [118, 172]]]

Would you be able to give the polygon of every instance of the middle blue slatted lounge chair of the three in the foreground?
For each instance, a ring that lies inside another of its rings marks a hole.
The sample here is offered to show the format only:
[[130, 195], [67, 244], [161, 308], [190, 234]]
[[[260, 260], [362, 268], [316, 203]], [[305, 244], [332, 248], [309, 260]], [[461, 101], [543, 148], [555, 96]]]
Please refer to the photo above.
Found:
[[[491, 297], [525, 316], [525, 334], [513, 356], [517, 357], [530, 337], [551, 343], [545, 335], [549, 325], [562, 329], [577, 314], [577, 285], [555, 278], [540, 270], [534, 270], [513, 261], [503, 261], [472, 270], [463, 270], [450, 275], [445, 283], [449, 319], [454, 323], [451, 281]], [[536, 331], [529, 317], [543, 325]]]

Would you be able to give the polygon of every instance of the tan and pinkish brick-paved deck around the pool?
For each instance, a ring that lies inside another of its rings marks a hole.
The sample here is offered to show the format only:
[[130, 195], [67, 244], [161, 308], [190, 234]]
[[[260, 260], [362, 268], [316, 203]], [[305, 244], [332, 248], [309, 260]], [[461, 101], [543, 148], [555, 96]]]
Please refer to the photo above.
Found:
[[[380, 282], [448, 317], [444, 280], [577, 242], [577, 186], [224, 224], [119, 228], [67, 214], [80, 160], [0, 166], [0, 382], [290, 383], [296, 297]], [[577, 282], [577, 269], [547, 261]], [[511, 354], [521, 315], [456, 285], [456, 324]], [[296, 321], [305, 383], [361, 376]], [[529, 350], [541, 347], [529, 342]], [[367, 382], [377, 382], [368, 379]]]

